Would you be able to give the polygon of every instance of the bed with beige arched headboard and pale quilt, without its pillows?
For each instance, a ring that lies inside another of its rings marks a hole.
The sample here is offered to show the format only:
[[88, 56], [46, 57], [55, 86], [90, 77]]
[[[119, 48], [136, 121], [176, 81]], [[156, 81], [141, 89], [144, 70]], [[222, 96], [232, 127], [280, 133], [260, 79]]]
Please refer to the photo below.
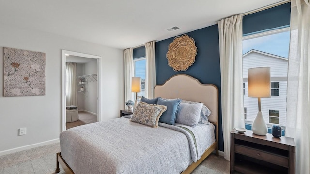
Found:
[[216, 86], [180, 74], [157, 85], [154, 97], [201, 102], [211, 110], [210, 124], [151, 128], [123, 116], [72, 128], [61, 133], [56, 173], [60, 163], [66, 174], [189, 174], [213, 151], [218, 155]]

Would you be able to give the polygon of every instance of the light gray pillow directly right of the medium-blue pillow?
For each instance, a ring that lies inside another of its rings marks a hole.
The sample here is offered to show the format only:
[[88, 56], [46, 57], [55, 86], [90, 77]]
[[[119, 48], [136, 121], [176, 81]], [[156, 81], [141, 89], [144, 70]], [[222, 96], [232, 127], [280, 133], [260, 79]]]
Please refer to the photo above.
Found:
[[195, 127], [200, 118], [203, 103], [180, 103], [176, 113], [176, 123], [184, 124], [187, 126]]

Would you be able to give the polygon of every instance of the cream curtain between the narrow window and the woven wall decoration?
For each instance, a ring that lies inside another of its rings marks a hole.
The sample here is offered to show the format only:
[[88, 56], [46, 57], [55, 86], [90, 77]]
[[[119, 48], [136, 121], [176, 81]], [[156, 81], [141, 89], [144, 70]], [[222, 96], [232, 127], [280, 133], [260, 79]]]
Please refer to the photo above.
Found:
[[156, 86], [155, 41], [145, 43], [145, 57], [145, 97], [153, 99]]

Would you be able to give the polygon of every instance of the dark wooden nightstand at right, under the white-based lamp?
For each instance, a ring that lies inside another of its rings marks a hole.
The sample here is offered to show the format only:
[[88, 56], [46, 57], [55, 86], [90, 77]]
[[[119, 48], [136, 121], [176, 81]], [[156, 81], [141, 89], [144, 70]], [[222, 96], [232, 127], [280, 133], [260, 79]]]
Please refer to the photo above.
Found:
[[295, 142], [293, 138], [275, 138], [231, 131], [230, 172], [244, 174], [295, 174]]

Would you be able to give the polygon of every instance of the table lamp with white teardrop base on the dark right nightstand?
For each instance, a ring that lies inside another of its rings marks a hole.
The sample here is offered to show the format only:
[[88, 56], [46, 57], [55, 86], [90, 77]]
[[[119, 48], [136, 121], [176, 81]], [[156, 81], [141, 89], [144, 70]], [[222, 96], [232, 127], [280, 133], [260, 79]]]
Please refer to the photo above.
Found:
[[261, 97], [270, 97], [270, 67], [248, 69], [248, 97], [257, 97], [258, 112], [252, 125], [256, 135], [266, 135], [267, 125], [261, 112]]

